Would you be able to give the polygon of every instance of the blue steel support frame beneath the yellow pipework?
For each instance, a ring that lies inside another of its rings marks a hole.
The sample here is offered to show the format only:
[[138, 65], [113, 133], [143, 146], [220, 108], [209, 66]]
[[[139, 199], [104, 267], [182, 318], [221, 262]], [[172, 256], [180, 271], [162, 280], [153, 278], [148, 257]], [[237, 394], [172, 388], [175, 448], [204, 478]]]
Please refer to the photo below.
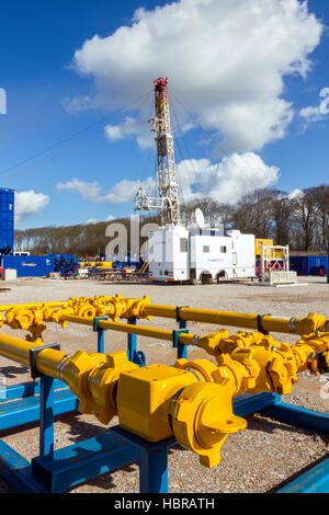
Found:
[[[104, 352], [104, 329], [95, 318], [98, 352]], [[136, 324], [136, 318], [128, 319]], [[179, 343], [179, 335], [189, 332], [186, 322], [179, 321], [172, 331], [172, 346], [178, 358], [188, 357], [188, 346]], [[137, 336], [127, 335], [128, 359], [145, 366], [145, 355], [137, 351]], [[5, 400], [0, 402], [0, 430], [39, 421], [39, 456], [27, 461], [0, 439], [0, 476], [18, 492], [65, 492], [68, 488], [123, 465], [139, 461], [139, 491], [168, 492], [168, 447], [174, 438], [149, 443], [120, 426], [111, 427], [94, 438], [54, 450], [54, 422], [60, 413], [78, 408], [78, 399], [67, 385], [42, 376], [39, 381], [7, 388]], [[10, 401], [10, 402], [8, 402]], [[329, 434], [329, 415], [291, 405], [276, 393], [240, 396], [234, 399], [234, 412], [239, 416], [260, 412], [295, 425]], [[279, 493], [329, 492], [329, 458], [303, 473]]]

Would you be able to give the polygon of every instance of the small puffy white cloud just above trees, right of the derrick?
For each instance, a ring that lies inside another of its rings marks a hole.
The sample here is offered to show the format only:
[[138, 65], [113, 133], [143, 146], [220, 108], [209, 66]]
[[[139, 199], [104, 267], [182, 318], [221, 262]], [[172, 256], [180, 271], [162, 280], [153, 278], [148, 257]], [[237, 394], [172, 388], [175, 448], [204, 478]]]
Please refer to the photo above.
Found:
[[178, 164], [182, 201], [209, 196], [222, 203], [236, 203], [245, 193], [266, 187], [279, 179], [279, 168], [269, 167], [253, 152], [234, 153], [219, 163], [190, 159]]

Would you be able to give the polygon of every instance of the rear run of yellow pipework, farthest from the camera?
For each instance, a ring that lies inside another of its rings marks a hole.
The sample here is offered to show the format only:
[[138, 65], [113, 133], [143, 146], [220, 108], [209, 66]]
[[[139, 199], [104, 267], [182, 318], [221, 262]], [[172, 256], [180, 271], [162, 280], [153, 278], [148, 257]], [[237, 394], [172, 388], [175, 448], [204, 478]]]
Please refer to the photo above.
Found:
[[[3, 314], [4, 312], [5, 314]], [[256, 313], [155, 305], [149, 301], [148, 297], [143, 299], [124, 298], [122, 295], [115, 297], [71, 297], [65, 301], [0, 306], [0, 327], [7, 323], [12, 329], [29, 330], [34, 336], [41, 337], [42, 332], [46, 329], [45, 322], [57, 322], [63, 327], [66, 327], [69, 321], [91, 325], [93, 317], [106, 316], [116, 322], [121, 318], [131, 317], [148, 320], [151, 317], [160, 317], [177, 320], [178, 314], [180, 320], [183, 321], [231, 325], [253, 331], [261, 329], [264, 332], [298, 335], [308, 335], [316, 331], [326, 332], [329, 329], [327, 318], [316, 313], [309, 313], [306, 318], [260, 317]], [[109, 323], [111, 322], [100, 322], [103, 327]], [[114, 325], [111, 325], [110, 329], [114, 329]], [[147, 331], [152, 331], [148, 328], [132, 328], [129, 325], [129, 331], [145, 331], [145, 335], [152, 335], [147, 334]], [[141, 332], [138, 332], [138, 334], [141, 334]], [[164, 340], [167, 337], [168, 334]]]

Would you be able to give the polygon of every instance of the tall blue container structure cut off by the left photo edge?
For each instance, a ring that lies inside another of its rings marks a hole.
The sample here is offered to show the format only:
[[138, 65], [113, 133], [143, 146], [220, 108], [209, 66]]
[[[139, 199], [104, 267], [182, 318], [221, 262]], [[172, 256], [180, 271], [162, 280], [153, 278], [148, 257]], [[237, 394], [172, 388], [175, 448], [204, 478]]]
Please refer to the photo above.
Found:
[[14, 191], [0, 187], [0, 252], [9, 253], [14, 240]]

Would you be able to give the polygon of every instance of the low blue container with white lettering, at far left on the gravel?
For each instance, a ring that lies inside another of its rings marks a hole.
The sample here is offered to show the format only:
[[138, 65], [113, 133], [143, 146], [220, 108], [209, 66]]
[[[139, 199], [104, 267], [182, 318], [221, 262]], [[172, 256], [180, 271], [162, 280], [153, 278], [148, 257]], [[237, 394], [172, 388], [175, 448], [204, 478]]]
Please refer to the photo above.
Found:
[[54, 272], [54, 258], [46, 255], [2, 255], [3, 268], [15, 268], [18, 277], [44, 277]]

